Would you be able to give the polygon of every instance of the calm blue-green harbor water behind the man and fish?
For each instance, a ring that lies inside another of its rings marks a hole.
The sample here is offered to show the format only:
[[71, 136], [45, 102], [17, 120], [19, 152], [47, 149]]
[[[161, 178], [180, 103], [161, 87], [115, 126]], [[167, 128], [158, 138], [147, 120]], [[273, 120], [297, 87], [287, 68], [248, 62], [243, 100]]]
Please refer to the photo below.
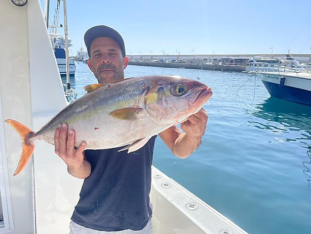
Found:
[[[78, 63], [72, 88], [97, 83]], [[180, 75], [213, 89], [200, 147], [187, 159], [157, 138], [154, 166], [250, 234], [311, 233], [311, 106], [270, 97], [242, 72], [128, 66], [125, 77]]]

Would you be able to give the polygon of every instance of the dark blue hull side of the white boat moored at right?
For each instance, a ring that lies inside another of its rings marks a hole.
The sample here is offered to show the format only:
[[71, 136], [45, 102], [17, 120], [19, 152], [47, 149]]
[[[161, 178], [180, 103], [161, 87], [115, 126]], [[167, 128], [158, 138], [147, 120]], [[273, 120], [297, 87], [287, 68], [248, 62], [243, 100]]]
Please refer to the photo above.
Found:
[[262, 81], [266, 86], [269, 94], [289, 101], [294, 101], [306, 105], [311, 105], [311, 91], [302, 90], [294, 87], [283, 86], [278, 84]]

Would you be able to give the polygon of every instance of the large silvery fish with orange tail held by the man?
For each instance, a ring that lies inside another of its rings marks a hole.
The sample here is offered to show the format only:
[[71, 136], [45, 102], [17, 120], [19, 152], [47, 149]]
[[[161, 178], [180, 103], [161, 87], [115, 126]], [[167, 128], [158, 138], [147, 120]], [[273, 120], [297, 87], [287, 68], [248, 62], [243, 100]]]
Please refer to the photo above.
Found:
[[132, 152], [152, 136], [187, 120], [212, 95], [205, 84], [177, 76], [128, 78], [84, 89], [88, 94], [65, 107], [37, 133], [15, 120], [5, 120], [23, 140], [14, 175], [25, 168], [38, 140], [54, 144], [59, 124], [67, 123], [75, 131], [76, 147], [85, 141], [86, 149], [126, 146], [122, 150]]

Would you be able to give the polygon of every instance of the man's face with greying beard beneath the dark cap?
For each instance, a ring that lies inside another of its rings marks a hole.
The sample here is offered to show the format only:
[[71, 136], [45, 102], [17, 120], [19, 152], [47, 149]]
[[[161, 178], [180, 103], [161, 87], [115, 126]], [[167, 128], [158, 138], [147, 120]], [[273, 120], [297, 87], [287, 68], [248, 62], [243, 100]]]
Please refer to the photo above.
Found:
[[124, 79], [124, 69], [128, 57], [122, 57], [117, 42], [108, 37], [94, 39], [90, 45], [90, 59], [87, 65], [94, 73], [98, 83], [109, 83]]

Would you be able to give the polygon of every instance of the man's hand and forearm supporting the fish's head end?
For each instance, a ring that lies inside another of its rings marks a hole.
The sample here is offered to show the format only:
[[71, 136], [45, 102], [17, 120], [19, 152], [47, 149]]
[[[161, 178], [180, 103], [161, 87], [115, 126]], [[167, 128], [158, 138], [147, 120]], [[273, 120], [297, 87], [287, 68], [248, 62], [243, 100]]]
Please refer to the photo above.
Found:
[[174, 125], [159, 133], [159, 136], [174, 155], [186, 158], [201, 144], [207, 119], [208, 115], [202, 108], [196, 114], [189, 116], [186, 122], [181, 123], [184, 133]]

